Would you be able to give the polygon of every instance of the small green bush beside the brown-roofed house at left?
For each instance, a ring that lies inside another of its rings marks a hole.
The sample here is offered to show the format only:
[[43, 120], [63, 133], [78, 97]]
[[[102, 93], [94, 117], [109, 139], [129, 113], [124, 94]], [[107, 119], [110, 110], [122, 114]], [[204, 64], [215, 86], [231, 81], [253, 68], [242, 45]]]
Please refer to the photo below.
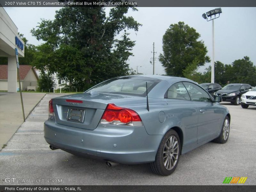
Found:
[[48, 92], [49, 90], [53, 89], [55, 83], [53, 81], [53, 76], [48, 73], [41, 72], [39, 79], [38, 79], [38, 90], [43, 92]]

